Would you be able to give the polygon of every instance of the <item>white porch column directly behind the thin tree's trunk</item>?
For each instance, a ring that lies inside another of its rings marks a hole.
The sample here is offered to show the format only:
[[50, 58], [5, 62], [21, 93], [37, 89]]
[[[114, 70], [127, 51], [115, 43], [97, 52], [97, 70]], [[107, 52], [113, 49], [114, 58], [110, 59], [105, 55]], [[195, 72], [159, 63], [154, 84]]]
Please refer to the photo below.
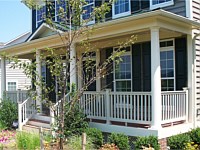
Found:
[[[70, 51], [70, 86], [76, 83], [76, 48], [75, 44], [72, 43]], [[77, 87], [76, 87], [77, 88]]]

